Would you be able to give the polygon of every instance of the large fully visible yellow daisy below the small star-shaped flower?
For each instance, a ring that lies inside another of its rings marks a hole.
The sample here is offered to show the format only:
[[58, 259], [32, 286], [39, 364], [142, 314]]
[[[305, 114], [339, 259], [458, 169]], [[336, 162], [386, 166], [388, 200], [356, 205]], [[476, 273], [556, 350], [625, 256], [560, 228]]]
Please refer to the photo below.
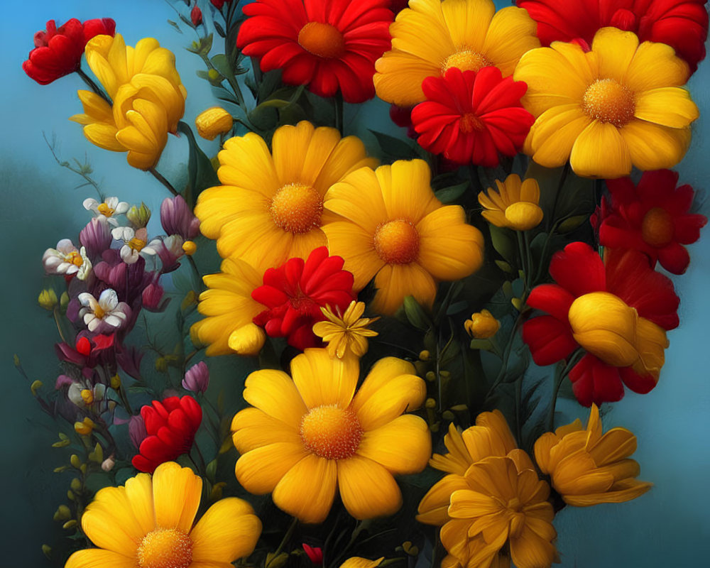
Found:
[[234, 416], [241, 457], [236, 479], [305, 523], [327, 517], [336, 491], [358, 519], [392, 515], [402, 505], [393, 475], [425, 468], [431, 438], [418, 408], [426, 387], [412, 364], [378, 361], [356, 391], [359, 362], [306, 349], [290, 378], [264, 369], [246, 378], [244, 399], [255, 408]]

